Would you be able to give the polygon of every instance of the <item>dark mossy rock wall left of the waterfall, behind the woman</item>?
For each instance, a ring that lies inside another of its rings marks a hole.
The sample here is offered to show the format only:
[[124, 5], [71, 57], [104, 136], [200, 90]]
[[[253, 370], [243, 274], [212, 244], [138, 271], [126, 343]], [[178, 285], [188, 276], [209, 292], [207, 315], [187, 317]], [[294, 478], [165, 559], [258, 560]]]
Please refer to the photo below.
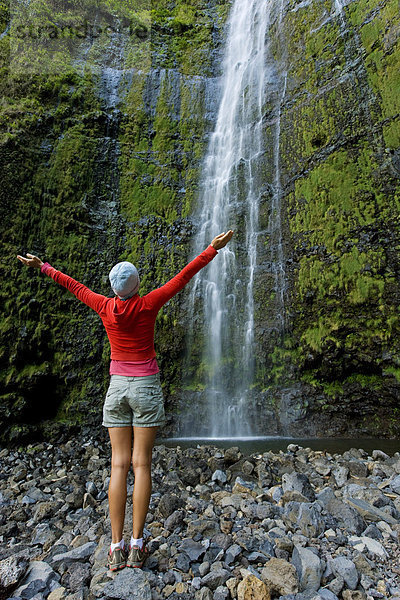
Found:
[[[94, 37], [62, 41], [57, 69], [46, 55], [35, 63], [39, 42], [19, 45], [10, 21], [25, 24], [26, 15], [1, 5], [4, 442], [99, 425], [109, 379], [97, 315], [17, 253], [37, 254], [105, 295], [118, 260], [138, 266], [143, 294], [190, 253], [226, 3], [139, 4], [97, 2], [82, 15], [79, 2], [66, 13], [56, 0], [33, 1], [35, 32], [44, 19], [57, 31], [77, 30], [85, 16], [96, 22]], [[178, 309], [171, 301], [156, 325], [167, 397], [184, 352]]]

